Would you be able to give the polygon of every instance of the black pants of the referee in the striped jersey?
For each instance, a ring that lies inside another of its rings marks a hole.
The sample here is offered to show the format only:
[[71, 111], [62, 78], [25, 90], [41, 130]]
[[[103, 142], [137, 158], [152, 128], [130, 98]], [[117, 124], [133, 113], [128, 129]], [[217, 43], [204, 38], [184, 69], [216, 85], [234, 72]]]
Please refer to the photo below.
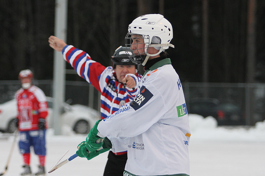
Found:
[[110, 151], [103, 176], [122, 176], [127, 162], [127, 153], [115, 155]]

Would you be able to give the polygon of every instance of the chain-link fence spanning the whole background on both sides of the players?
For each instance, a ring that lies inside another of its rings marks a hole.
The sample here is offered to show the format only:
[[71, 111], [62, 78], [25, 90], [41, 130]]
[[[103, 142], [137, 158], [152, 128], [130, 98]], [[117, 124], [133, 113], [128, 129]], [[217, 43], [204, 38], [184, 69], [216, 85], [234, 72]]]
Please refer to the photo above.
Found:
[[[52, 97], [52, 80], [34, 80], [33, 84]], [[265, 84], [183, 82], [182, 86], [188, 113], [213, 114], [218, 124], [223, 125], [252, 126], [265, 119]], [[19, 88], [18, 80], [0, 81], [0, 104], [13, 99]], [[65, 100], [100, 111], [100, 92], [87, 82], [66, 81]], [[225, 119], [226, 116], [231, 121]]]

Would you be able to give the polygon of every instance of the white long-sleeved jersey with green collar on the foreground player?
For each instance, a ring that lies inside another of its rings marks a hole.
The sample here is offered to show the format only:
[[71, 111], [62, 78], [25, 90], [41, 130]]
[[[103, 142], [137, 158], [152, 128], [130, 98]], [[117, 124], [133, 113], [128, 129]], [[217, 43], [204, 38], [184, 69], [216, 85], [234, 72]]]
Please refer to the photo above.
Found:
[[125, 176], [189, 175], [188, 114], [169, 58], [150, 67], [130, 105], [103, 119], [97, 129], [114, 152], [128, 150]]

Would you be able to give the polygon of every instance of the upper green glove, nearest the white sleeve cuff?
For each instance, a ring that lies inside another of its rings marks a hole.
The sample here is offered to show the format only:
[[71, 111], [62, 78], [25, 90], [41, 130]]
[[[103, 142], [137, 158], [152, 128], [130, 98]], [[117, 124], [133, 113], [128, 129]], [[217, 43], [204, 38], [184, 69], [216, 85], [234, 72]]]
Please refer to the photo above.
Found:
[[95, 123], [95, 125], [90, 130], [86, 138], [87, 149], [91, 152], [99, 149], [100, 147], [102, 147], [102, 144], [103, 144], [103, 138], [97, 136], [97, 133], [98, 133], [97, 126], [100, 121], [102, 121], [102, 119], [98, 120]]

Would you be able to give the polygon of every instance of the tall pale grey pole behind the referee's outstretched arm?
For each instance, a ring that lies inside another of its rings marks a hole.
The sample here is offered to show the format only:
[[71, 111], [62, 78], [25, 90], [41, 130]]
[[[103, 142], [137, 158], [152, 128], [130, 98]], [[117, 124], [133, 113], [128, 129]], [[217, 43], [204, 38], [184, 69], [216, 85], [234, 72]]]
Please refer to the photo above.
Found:
[[[54, 35], [66, 42], [67, 0], [55, 1]], [[62, 112], [65, 99], [65, 61], [62, 53], [54, 50], [53, 69], [53, 128], [55, 135], [62, 134]]]

